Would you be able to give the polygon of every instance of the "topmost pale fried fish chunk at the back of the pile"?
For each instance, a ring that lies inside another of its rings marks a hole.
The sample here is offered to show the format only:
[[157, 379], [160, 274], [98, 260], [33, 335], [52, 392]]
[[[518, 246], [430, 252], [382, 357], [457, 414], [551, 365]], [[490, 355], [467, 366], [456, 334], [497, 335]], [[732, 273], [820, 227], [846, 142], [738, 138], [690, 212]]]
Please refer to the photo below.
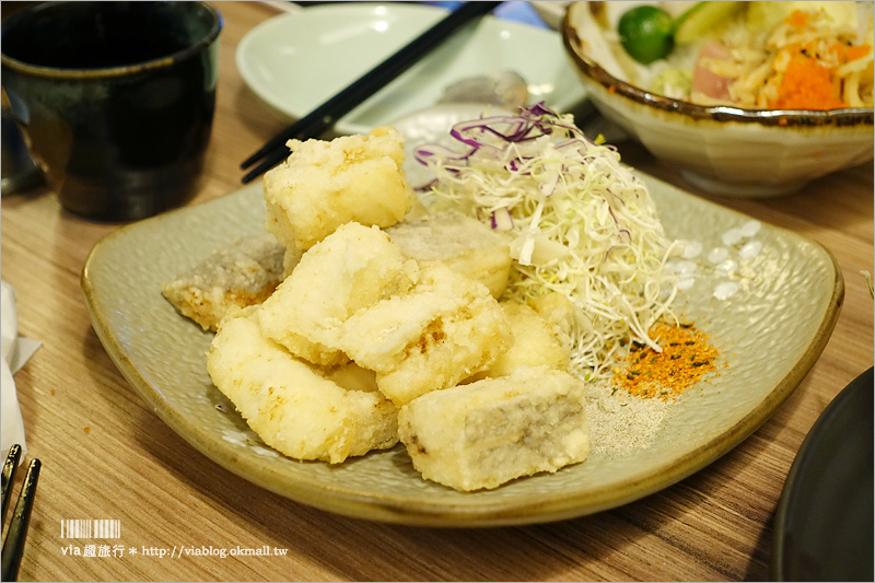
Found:
[[304, 252], [350, 221], [390, 226], [413, 203], [401, 167], [404, 138], [393, 127], [331, 141], [290, 140], [292, 153], [265, 174], [265, 228]]

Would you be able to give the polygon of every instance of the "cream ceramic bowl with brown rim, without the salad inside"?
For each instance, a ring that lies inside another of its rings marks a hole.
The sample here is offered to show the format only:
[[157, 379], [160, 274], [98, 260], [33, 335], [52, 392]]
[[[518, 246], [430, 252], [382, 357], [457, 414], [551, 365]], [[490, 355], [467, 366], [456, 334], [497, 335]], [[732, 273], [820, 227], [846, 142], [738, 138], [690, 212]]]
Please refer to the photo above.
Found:
[[872, 160], [872, 108], [707, 107], [634, 86], [629, 82], [633, 69], [610, 46], [596, 18], [603, 4], [572, 2], [562, 21], [565, 53], [587, 96], [602, 115], [693, 185], [722, 196], [781, 196]]

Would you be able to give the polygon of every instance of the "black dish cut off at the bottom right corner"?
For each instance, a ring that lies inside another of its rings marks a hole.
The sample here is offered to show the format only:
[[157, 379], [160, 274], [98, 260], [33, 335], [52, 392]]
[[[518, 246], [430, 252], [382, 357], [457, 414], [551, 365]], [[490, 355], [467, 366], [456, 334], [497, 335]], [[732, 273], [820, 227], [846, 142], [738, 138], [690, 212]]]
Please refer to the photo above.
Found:
[[872, 581], [873, 370], [824, 409], [784, 482], [772, 581]]

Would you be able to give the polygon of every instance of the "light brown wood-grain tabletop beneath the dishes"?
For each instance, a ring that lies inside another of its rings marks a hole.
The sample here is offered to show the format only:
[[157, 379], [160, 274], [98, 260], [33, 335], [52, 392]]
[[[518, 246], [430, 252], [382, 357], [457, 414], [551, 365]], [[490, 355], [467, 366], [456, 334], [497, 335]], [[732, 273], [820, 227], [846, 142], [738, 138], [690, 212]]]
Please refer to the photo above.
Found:
[[[276, 14], [222, 2], [215, 126], [196, 205], [237, 189], [240, 162], [282, 128], [242, 82], [242, 36]], [[625, 161], [675, 182], [634, 145]], [[697, 193], [701, 194], [701, 193]], [[704, 195], [703, 195], [704, 196]], [[713, 198], [713, 197], [710, 197]], [[44, 346], [15, 376], [30, 457], [43, 462], [22, 580], [765, 580], [773, 513], [818, 415], [873, 364], [873, 166], [816, 180], [792, 197], [713, 198], [822, 243], [844, 273], [835, 333], [793, 396], [754, 435], [660, 493], [556, 524], [434, 529], [322, 512], [221, 468], [174, 433], [126, 383], [92, 330], [80, 271], [117, 225], [61, 212], [45, 188], [2, 199], [2, 278], [18, 292], [20, 333]], [[801, 293], [804, 293], [801, 291]], [[117, 518], [108, 557], [65, 555], [67, 518]], [[175, 558], [154, 548], [288, 549], [284, 556]], [[130, 548], [140, 550], [131, 555]]]

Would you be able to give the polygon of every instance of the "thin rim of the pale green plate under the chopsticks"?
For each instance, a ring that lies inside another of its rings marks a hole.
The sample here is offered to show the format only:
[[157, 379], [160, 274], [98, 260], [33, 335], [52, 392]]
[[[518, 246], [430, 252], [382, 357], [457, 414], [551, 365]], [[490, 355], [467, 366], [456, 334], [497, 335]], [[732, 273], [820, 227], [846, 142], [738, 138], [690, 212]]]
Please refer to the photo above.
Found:
[[[438, 7], [438, 5], [407, 3], [407, 2], [385, 3], [385, 2], [365, 1], [365, 2], [352, 2], [352, 3], [343, 2], [343, 3], [340, 3], [340, 4], [330, 4], [330, 3], [329, 4], [317, 4], [317, 5], [313, 5], [313, 7], [307, 7], [304, 10], [300, 10], [300, 11], [295, 11], [295, 12], [287, 12], [287, 13], [282, 13], [282, 14], [277, 14], [277, 15], [271, 16], [270, 19], [268, 19], [266, 21], [262, 21], [262, 22], [258, 23], [252, 30], [247, 31], [246, 34], [241, 38], [240, 43], [237, 44], [237, 47], [236, 47], [236, 49], [234, 51], [234, 62], [235, 62], [235, 66], [237, 68], [237, 71], [238, 71], [238, 73], [241, 75], [241, 79], [243, 80], [244, 84], [249, 89], [249, 91], [252, 91], [259, 100], [261, 100], [264, 103], [268, 104], [270, 107], [272, 107], [273, 109], [276, 109], [280, 114], [289, 117], [290, 119], [298, 119], [298, 118], [301, 118], [301, 117], [307, 115], [310, 112], [300, 112], [299, 114], [294, 114], [288, 107], [283, 106], [283, 104], [281, 103], [281, 100], [279, 100], [279, 98], [277, 98], [275, 96], [270, 96], [270, 97], [265, 96], [266, 92], [262, 89], [256, 90], [256, 88], [262, 88], [262, 84], [257, 80], [257, 78], [249, 70], [248, 65], [245, 62], [245, 53], [249, 48], [249, 45], [254, 42], [253, 39], [256, 38], [257, 35], [259, 33], [262, 33], [265, 30], [268, 30], [268, 28], [275, 27], [275, 26], [281, 26], [284, 21], [292, 21], [292, 20], [295, 20], [295, 19], [306, 18], [307, 12], [310, 12], [310, 13], [314, 13], [314, 12], [349, 12], [350, 10], [360, 10], [362, 12], [366, 12], [366, 11], [369, 11], [369, 9], [372, 10], [372, 9], [374, 9], [376, 7], [384, 7], [384, 8], [388, 9], [388, 10], [392, 10], [392, 11], [396, 11], [396, 12], [399, 12], [399, 13], [405, 13], [406, 12], [408, 14], [412, 14], [412, 13], [422, 13], [422, 14], [432, 13], [432, 14], [444, 14], [445, 15], [445, 14], [450, 13], [450, 11], [447, 9], [442, 8], [442, 7]], [[525, 31], [525, 34], [534, 34], [534, 35], [551, 35], [551, 34], [556, 34], [555, 31], [542, 30], [542, 28], [538, 28], [538, 27], [535, 27], [535, 26], [532, 26], [532, 25], [528, 25], [528, 24], [525, 24], [525, 23], [520, 23], [520, 22], [515, 22], [515, 21], [500, 19], [500, 18], [494, 16], [492, 14], [487, 14], [487, 15], [482, 16], [481, 21], [488, 23], [487, 24], [488, 26], [503, 26], [503, 27], [506, 27], [506, 28], [510, 28], [510, 30], [514, 30], [514, 31]], [[560, 49], [561, 49], [561, 39], [558, 39], [558, 40], [559, 40]], [[562, 55], [562, 58], [565, 58], [564, 55]], [[569, 68], [569, 73], [573, 73], [573, 71], [570, 68]], [[350, 80], [350, 82], [352, 82], [352, 81], [354, 81], [354, 79]], [[579, 97], [576, 100], [574, 100], [573, 102], [570, 102], [570, 103], [553, 104], [553, 106], [565, 110], [565, 109], [570, 109], [571, 107], [573, 107], [578, 102], [582, 102], [583, 100], [585, 100], [586, 95], [585, 95], [585, 92], [584, 92], [584, 86], [583, 86], [583, 84], [579, 84], [579, 85], [580, 85], [579, 86], [580, 95], [579, 95]], [[578, 88], [578, 85], [575, 85], [575, 88]], [[269, 92], [267, 92], [267, 93], [269, 93]], [[314, 104], [313, 108], [315, 109], [318, 105], [319, 105], [318, 103]], [[407, 112], [407, 113], [402, 112], [401, 115], [412, 114], [416, 110], [418, 110], [418, 108], [411, 109], [410, 112]], [[396, 114], [396, 117], [397, 117], [397, 114]], [[387, 119], [386, 124], [388, 124], [390, 121], [392, 121], [390, 119]], [[366, 127], [366, 126], [364, 126], [362, 124], [345, 121], [343, 117], [338, 119], [334, 125], [334, 130], [336, 132], [342, 133], [342, 135], [368, 133], [371, 129], [372, 128]]]

